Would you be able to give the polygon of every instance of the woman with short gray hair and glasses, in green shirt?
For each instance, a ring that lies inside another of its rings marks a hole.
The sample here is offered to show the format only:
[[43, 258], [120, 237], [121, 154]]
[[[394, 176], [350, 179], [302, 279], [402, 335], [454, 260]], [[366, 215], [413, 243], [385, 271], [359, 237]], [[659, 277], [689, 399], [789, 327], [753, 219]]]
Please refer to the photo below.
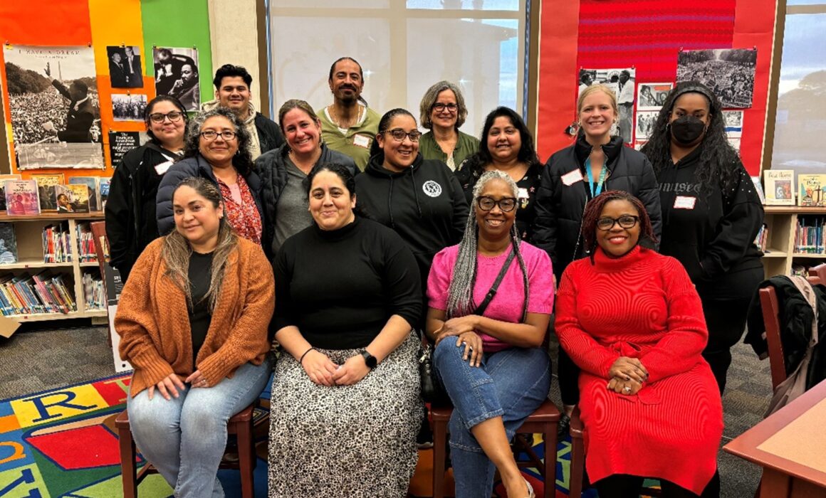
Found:
[[428, 88], [419, 110], [422, 128], [430, 130], [419, 140], [419, 154], [423, 158], [438, 159], [455, 170], [479, 150], [475, 136], [459, 131], [468, 119], [468, 107], [456, 85], [440, 81]]

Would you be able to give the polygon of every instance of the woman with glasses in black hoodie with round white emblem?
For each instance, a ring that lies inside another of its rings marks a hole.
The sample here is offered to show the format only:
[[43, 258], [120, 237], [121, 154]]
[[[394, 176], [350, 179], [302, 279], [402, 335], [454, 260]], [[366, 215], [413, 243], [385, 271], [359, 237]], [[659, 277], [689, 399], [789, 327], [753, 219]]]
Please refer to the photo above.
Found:
[[356, 187], [358, 205], [411, 249], [424, 287], [434, 255], [462, 240], [468, 202], [447, 165], [419, 154], [420, 137], [410, 111], [387, 111]]

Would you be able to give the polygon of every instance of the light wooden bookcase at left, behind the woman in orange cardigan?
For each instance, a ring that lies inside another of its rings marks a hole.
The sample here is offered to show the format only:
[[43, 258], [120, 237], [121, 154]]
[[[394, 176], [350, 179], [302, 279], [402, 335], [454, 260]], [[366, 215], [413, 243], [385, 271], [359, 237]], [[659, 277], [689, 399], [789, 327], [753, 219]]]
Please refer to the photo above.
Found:
[[[93, 322], [106, 323], [106, 310], [88, 310], [84, 301], [83, 292], [83, 270], [86, 268], [99, 268], [96, 262], [81, 263], [78, 254], [78, 235], [76, 227], [78, 222], [100, 221], [103, 219], [102, 212], [91, 213], [56, 213], [48, 212], [37, 216], [8, 216], [0, 214], [0, 222], [13, 223], [15, 238], [17, 239], [17, 263], [0, 264], [0, 276], [9, 273], [20, 275], [22, 273], [39, 273], [45, 268], [49, 268], [52, 273], [64, 273], [71, 276], [74, 281], [74, 301], [78, 311], [69, 313], [36, 313], [31, 315], [6, 315], [6, 318], [25, 323], [27, 321], [40, 320], [65, 320], [69, 318], [92, 318]], [[54, 225], [61, 221], [69, 222], [69, 240], [72, 250], [72, 261], [70, 263], [44, 263], [43, 262], [43, 228], [46, 225]]]

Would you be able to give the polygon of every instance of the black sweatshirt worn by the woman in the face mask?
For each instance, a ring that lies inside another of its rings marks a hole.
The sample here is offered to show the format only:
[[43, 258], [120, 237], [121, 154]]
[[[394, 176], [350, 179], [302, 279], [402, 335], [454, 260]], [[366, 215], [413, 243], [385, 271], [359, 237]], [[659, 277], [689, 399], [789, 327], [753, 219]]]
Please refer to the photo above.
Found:
[[[763, 206], [743, 164], [732, 164], [737, 180], [724, 189], [703, 188], [697, 180], [700, 147], [663, 168], [660, 252], [680, 260], [698, 292], [719, 286], [727, 273], [761, 268], [754, 238], [763, 223]], [[751, 291], [750, 291], [751, 292]]]

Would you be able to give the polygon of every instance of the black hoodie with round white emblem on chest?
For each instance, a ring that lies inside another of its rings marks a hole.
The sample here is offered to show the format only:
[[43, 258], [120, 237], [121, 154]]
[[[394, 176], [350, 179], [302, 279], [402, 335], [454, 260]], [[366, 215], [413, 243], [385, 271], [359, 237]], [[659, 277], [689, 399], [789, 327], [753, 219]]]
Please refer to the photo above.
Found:
[[424, 288], [434, 255], [462, 240], [468, 202], [456, 176], [439, 160], [418, 154], [401, 173], [383, 163], [383, 154], [373, 156], [356, 177], [358, 206], [401, 235], [419, 263]]

